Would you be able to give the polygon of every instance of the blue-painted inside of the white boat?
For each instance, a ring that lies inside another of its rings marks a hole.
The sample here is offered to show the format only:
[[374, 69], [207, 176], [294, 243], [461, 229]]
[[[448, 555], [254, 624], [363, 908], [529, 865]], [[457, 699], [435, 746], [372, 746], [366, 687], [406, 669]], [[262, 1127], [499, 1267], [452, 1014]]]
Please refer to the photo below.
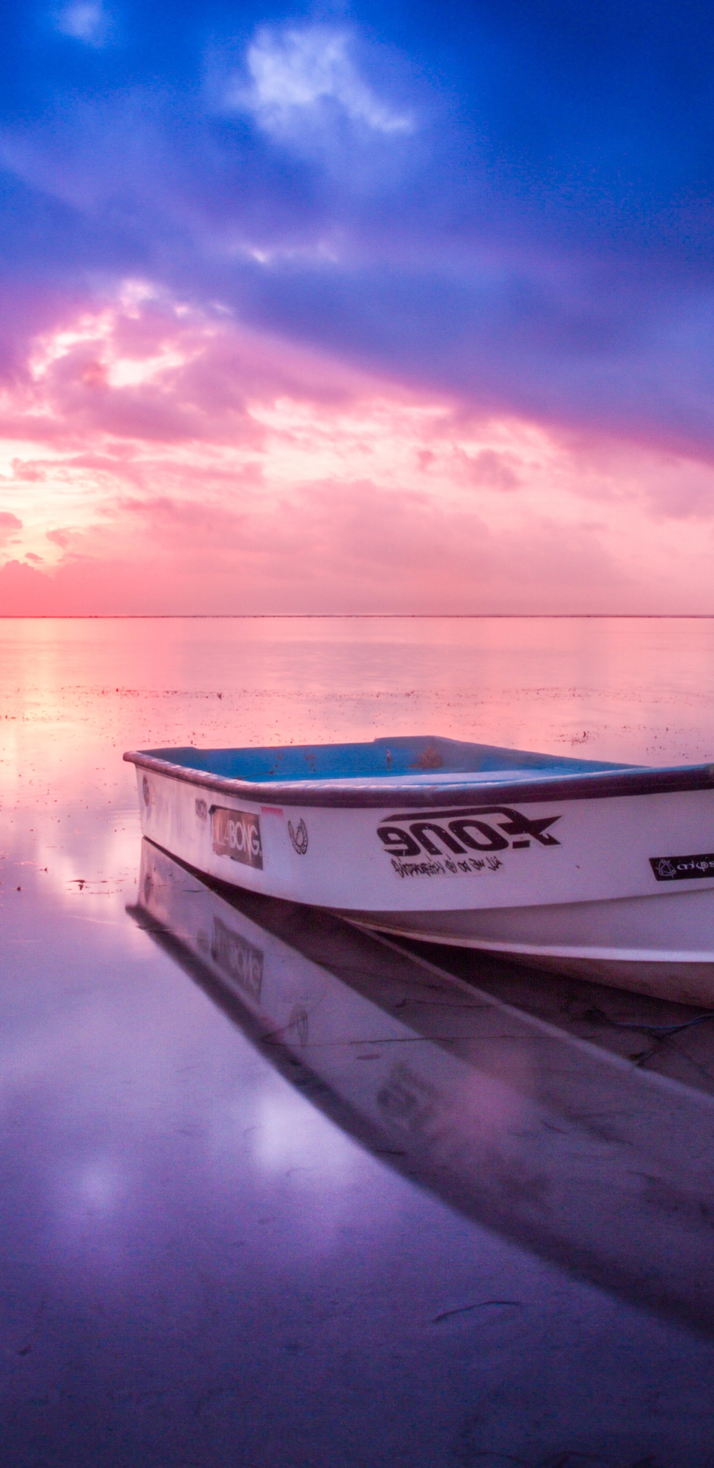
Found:
[[588, 775], [599, 769], [630, 769], [592, 759], [535, 755], [498, 744], [467, 744], [435, 735], [376, 738], [370, 744], [286, 744], [267, 749], [153, 749], [144, 753], [184, 769], [225, 780], [256, 782], [285, 780], [378, 780], [400, 775], [476, 775], [489, 771], [542, 771]]

